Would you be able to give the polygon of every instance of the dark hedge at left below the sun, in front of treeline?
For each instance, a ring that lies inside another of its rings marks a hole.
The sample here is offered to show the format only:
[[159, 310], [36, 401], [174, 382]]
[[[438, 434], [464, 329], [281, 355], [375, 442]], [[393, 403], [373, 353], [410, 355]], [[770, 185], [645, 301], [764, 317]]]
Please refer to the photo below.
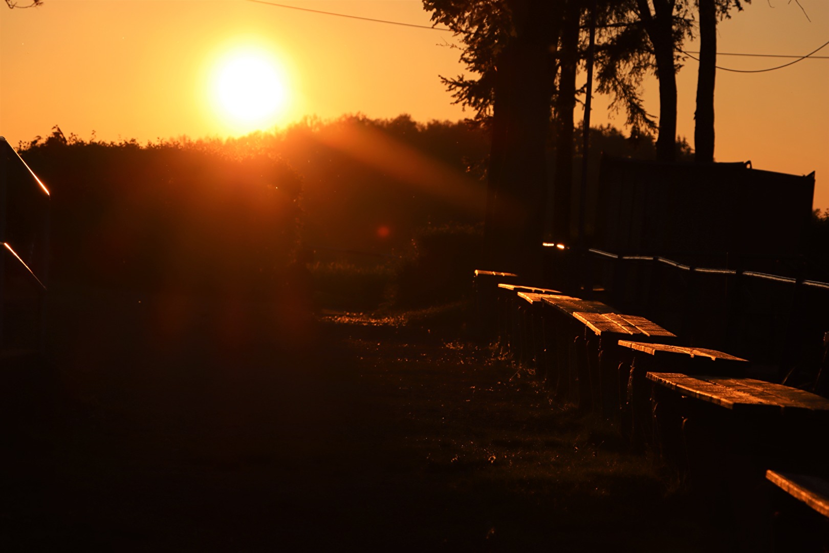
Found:
[[298, 242], [301, 179], [222, 143], [85, 143], [55, 129], [22, 158], [51, 191], [52, 278], [260, 293]]

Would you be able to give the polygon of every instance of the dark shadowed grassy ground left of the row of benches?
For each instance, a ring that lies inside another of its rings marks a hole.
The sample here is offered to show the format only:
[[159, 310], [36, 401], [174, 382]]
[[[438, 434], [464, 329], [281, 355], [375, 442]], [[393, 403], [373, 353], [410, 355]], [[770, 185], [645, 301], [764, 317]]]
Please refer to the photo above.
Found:
[[3, 551], [734, 549], [451, 318], [99, 291], [52, 313], [53, 361], [3, 368]]

